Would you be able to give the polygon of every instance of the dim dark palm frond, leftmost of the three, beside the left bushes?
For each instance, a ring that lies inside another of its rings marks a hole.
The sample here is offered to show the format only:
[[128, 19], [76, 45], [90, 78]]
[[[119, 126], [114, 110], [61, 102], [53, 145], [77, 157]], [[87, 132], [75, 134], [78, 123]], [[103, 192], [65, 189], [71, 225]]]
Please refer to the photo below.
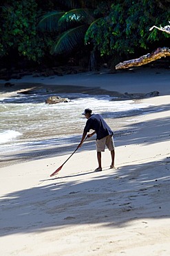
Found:
[[58, 29], [58, 21], [65, 12], [48, 12], [39, 20], [37, 28], [41, 31], [56, 31]]

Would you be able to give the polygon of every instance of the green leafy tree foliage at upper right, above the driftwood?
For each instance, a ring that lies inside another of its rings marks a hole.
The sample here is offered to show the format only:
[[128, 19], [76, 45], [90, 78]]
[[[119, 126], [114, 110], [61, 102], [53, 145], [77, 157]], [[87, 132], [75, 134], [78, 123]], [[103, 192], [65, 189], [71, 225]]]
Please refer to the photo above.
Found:
[[[169, 8], [160, 8], [160, 1], [114, 1], [107, 17], [89, 26], [85, 43], [92, 42], [101, 55], [134, 53], [169, 35], [149, 28], [167, 24]], [[158, 36], [159, 34], [159, 36]]]

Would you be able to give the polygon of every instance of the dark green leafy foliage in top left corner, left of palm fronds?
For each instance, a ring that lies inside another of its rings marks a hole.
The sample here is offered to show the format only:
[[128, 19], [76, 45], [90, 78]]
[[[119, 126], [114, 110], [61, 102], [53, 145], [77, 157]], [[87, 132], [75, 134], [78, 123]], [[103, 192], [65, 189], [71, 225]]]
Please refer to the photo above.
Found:
[[39, 60], [43, 55], [42, 42], [36, 35], [36, 2], [11, 1], [2, 6], [1, 56], [8, 55], [11, 48], [28, 60]]

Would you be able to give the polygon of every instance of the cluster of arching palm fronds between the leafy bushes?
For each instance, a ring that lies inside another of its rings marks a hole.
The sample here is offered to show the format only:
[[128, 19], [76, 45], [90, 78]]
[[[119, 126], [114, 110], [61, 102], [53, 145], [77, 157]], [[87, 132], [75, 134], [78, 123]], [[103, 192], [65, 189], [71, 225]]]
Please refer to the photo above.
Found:
[[[41, 17], [39, 29], [44, 31], [44, 28], [46, 28], [46, 30], [51, 32], [56, 30], [56, 35], [58, 35], [50, 51], [52, 54], [68, 53], [77, 46], [80, 46], [80, 44], [83, 46], [86, 30], [95, 20], [96, 9], [93, 8], [95, 8], [99, 2], [100, 1], [92, 0], [65, 1], [67, 6], [75, 6], [76, 8], [64, 12], [61, 17], [59, 17], [59, 12], [57, 11], [49, 12]], [[86, 8], [86, 6], [89, 8]]]

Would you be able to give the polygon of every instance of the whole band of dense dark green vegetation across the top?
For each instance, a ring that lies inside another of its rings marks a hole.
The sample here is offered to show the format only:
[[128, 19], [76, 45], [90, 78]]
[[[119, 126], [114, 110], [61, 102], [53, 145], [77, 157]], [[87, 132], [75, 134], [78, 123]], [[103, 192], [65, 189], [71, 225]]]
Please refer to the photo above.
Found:
[[169, 47], [170, 1], [1, 0], [0, 57], [32, 61], [95, 55], [121, 60]]

